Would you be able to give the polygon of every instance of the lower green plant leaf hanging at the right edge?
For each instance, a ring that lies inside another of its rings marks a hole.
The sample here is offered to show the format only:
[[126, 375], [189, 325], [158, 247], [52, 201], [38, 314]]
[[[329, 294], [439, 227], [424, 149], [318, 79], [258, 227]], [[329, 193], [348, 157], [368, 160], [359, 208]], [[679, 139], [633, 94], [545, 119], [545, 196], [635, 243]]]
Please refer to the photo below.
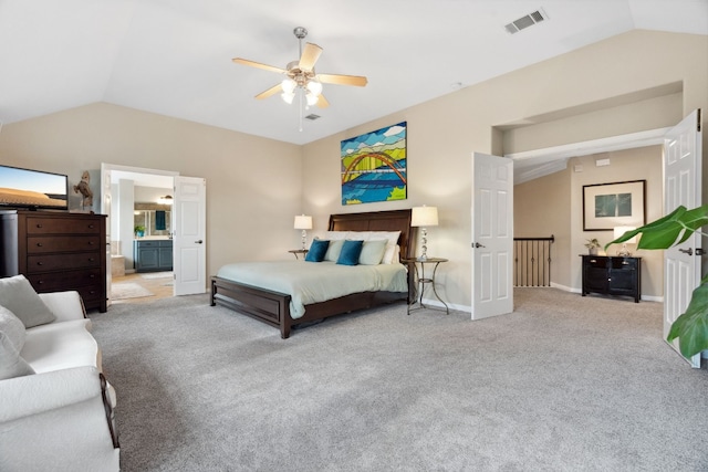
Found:
[[676, 318], [666, 340], [677, 337], [678, 348], [686, 357], [708, 349], [708, 277], [694, 290], [686, 313]]

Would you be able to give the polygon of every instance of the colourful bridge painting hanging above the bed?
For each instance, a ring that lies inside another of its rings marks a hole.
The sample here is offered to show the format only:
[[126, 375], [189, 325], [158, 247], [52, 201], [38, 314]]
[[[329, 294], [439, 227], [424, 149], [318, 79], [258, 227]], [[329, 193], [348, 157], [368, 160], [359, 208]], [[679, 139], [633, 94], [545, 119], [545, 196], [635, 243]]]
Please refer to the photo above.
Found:
[[406, 133], [402, 122], [342, 141], [343, 206], [407, 198]]

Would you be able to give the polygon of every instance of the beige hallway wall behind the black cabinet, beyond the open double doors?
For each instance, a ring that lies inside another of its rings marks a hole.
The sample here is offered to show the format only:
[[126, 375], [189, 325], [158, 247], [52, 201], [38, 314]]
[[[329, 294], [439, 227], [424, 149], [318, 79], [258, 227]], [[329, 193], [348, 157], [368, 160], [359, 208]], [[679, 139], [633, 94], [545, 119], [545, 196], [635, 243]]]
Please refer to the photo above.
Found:
[[[597, 167], [597, 159], [610, 159], [610, 166]], [[576, 171], [576, 166], [582, 170]], [[555, 235], [552, 280], [554, 285], [580, 291], [579, 254], [587, 253], [584, 243], [597, 238], [604, 245], [614, 239], [612, 231], [583, 231], [583, 186], [646, 180], [647, 222], [660, 218], [663, 206], [662, 147], [650, 146], [592, 156], [574, 157], [568, 169], [514, 187], [514, 234], [523, 237]], [[642, 295], [649, 300], [663, 296], [663, 252], [637, 251], [642, 256]], [[608, 254], [616, 247], [607, 248]]]

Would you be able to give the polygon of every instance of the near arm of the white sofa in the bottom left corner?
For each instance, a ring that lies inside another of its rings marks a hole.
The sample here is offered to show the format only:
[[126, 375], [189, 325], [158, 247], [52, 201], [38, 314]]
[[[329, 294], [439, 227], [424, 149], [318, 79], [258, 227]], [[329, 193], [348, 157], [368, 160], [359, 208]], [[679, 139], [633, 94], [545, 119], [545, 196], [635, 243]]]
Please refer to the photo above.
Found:
[[95, 367], [0, 381], [0, 470], [117, 471], [111, 387]]

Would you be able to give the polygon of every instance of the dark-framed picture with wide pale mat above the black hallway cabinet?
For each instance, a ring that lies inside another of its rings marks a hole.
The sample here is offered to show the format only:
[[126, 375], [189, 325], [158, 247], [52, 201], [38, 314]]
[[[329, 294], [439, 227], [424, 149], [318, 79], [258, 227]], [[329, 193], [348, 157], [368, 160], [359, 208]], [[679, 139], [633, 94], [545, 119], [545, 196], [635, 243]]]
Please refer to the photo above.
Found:
[[644, 225], [646, 180], [583, 186], [583, 230]]

